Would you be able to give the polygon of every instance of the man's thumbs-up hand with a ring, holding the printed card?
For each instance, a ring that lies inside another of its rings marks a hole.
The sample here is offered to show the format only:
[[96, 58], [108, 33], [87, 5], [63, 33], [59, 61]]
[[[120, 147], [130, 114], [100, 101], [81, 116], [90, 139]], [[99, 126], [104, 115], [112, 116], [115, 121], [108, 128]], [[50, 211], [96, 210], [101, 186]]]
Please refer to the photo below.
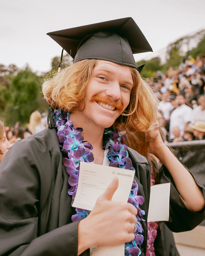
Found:
[[[79, 222], [78, 253], [93, 245], [115, 246], [135, 239], [137, 209], [130, 203], [112, 202], [118, 178], [97, 199], [94, 209]], [[81, 243], [81, 245], [80, 245]]]

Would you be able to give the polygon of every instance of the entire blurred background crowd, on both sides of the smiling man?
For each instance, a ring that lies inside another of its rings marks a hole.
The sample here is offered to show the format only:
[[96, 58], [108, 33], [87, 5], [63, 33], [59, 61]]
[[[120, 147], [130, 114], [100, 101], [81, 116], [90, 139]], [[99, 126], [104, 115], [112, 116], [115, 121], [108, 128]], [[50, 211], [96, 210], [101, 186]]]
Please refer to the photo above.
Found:
[[[188, 56], [177, 70], [169, 68], [166, 74], [155, 71], [155, 78], [147, 79], [159, 99], [163, 136], [168, 142], [205, 139], [205, 54], [196, 59]], [[34, 111], [29, 124], [21, 122], [4, 127], [0, 121], [0, 161], [18, 140], [36, 134], [47, 127], [47, 114]]]

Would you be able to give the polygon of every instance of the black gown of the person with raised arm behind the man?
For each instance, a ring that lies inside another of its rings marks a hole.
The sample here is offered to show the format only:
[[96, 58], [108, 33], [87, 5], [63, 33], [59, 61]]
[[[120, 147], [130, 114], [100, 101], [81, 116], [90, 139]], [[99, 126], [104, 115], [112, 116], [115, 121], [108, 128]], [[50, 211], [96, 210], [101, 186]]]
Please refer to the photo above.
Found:
[[[158, 168], [162, 168], [162, 175], [159, 179], [159, 184], [171, 182], [170, 187], [170, 210], [169, 221], [159, 222], [157, 229], [157, 237], [154, 242], [155, 255], [156, 256], [179, 256], [179, 253], [175, 247], [175, 241], [173, 238], [173, 232], [188, 231], [195, 228], [205, 218], [204, 209], [200, 212], [193, 212], [187, 209], [183, 201], [181, 200], [173, 179], [168, 172], [167, 168], [162, 165]], [[196, 183], [201, 188], [203, 195], [205, 190], [203, 185], [194, 177]], [[205, 197], [204, 197], [205, 198]]]

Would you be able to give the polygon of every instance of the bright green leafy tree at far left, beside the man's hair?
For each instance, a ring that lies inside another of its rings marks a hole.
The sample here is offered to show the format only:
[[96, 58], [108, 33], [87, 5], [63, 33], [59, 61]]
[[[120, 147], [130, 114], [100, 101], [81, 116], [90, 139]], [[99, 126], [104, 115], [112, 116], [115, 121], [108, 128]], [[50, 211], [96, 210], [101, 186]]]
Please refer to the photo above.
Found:
[[17, 73], [6, 75], [9, 85], [0, 85], [4, 111], [0, 112], [0, 119], [7, 125], [14, 125], [16, 121], [24, 124], [29, 122], [30, 114], [40, 107], [43, 95], [41, 93], [42, 78], [32, 72], [29, 67]]

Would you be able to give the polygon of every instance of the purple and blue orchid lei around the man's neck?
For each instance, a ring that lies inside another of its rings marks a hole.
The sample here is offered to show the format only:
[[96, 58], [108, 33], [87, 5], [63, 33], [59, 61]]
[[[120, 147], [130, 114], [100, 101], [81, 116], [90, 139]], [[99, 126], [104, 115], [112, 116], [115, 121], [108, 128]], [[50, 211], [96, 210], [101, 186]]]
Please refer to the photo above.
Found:
[[[68, 189], [68, 194], [72, 196], [72, 203], [76, 195], [79, 177], [79, 165], [80, 161], [83, 162], [93, 162], [94, 157], [90, 150], [93, 149], [89, 142], [84, 141], [84, 137], [79, 133], [83, 131], [82, 128], [74, 128], [73, 121], [70, 121], [70, 114], [63, 113], [61, 110], [54, 111], [55, 114], [55, 127], [57, 127], [57, 136], [60, 143], [61, 151], [66, 153], [68, 157], [63, 159], [63, 163], [66, 166], [66, 172], [69, 175], [68, 184], [70, 188]], [[128, 157], [127, 145], [123, 143], [123, 137], [125, 137], [125, 132], [116, 132], [111, 130], [105, 130], [104, 133], [104, 149], [108, 149], [107, 157], [109, 158], [109, 166], [135, 170], [132, 166], [131, 159]], [[61, 144], [63, 143], [63, 146]], [[126, 256], [138, 256], [141, 254], [141, 250], [138, 245], [141, 245], [144, 236], [142, 225], [143, 215], [145, 211], [139, 208], [144, 202], [143, 196], [138, 196], [138, 185], [136, 180], [133, 180], [132, 188], [130, 191], [128, 202], [133, 204], [137, 210], [137, 231], [135, 232], [135, 239], [131, 242], [125, 244], [125, 255]], [[71, 203], [71, 204], [72, 204]], [[76, 214], [71, 217], [72, 221], [78, 221], [85, 218], [89, 211], [84, 209], [76, 208]]]

